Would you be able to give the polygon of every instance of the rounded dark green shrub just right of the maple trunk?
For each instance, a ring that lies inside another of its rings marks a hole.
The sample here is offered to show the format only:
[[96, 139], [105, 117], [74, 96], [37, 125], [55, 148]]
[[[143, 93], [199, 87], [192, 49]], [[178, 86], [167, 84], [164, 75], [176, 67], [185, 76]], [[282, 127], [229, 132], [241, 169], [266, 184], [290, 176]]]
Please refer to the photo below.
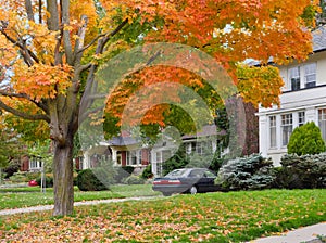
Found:
[[114, 183], [115, 172], [113, 169], [103, 167], [82, 170], [77, 176], [77, 187], [80, 191], [109, 190]]

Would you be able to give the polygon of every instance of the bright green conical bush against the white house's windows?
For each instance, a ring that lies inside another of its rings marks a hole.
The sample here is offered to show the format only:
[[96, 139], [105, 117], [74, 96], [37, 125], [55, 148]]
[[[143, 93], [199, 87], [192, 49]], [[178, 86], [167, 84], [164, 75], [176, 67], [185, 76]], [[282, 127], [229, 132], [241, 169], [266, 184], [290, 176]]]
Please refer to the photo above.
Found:
[[325, 141], [322, 138], [321, 129], [310, 122], [297, 127], [288, 144], [288, 154], [318, 154], [326, 151]]

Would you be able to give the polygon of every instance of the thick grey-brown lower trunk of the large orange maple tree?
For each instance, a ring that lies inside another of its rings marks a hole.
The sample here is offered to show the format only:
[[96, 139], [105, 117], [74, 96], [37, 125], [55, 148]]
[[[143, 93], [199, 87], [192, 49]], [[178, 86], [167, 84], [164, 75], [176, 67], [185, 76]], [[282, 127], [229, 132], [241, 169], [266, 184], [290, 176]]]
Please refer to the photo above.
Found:
[[73, 133], [67, 135], [64, 146], [54, 142], [53, 216], [72, 215], [74, 210], [74, 179], [73, 179]]

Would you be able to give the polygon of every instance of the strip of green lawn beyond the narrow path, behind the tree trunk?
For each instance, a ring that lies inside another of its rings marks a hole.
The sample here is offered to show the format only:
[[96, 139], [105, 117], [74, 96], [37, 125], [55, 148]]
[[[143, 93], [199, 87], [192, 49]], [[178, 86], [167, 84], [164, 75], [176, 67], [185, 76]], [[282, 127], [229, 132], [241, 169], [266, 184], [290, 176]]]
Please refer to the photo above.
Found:
[[[75, 187], [75, 202], [90, 200], [108, 200], [131, 196], [151, 196], [160, 193], [153, 192], [151, 184], [115, 184], [111, 191], [82, 192]], [[0, 189], [0, 209], [18, 208], [36, 205], [53, 204], [53, 189], [40, 192], [39, 187]]]

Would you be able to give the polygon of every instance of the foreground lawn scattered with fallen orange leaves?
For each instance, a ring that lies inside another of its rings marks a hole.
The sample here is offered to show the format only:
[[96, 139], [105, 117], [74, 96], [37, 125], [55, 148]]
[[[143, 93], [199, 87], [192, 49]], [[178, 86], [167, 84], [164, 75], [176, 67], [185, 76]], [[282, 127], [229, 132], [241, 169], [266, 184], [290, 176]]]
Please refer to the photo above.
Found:
[[15, 242], [243, 242], [326, 221], [325, 212], [325, 190], [206, 193], [1, 217], [0, 232]]

